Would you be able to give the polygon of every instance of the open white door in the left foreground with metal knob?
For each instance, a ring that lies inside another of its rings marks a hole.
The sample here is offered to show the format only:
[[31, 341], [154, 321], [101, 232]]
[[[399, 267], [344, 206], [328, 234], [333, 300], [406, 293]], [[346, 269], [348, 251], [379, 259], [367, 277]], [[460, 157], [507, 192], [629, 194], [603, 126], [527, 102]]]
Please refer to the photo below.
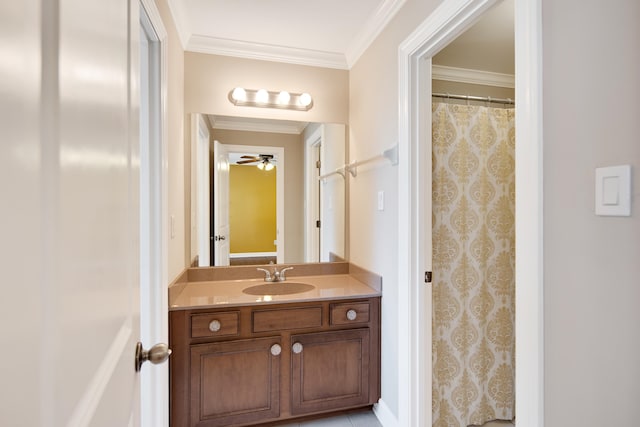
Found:
[[137, 426], [137, 2], [0, 3], [0, 425]]

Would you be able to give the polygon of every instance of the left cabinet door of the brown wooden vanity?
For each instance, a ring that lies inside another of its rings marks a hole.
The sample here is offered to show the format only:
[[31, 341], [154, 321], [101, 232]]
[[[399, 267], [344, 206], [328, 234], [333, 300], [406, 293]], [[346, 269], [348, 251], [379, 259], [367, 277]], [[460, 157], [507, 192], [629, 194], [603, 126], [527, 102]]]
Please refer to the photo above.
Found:
[[191, 347], [192, 427], [280, 416], [280, 337]]

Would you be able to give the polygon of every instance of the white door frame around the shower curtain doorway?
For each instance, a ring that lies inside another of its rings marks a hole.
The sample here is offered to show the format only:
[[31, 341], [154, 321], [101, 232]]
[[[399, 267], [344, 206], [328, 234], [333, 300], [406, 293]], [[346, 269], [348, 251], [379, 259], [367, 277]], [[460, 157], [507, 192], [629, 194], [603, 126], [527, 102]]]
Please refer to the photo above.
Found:
[[[431, 57], [500, 0], [448, 0], [398, 50], [399, 425], [430, 426], [431, 247], [423, 242], [431, 168]], [[544, 425], [542, 264], [541, 0], [515, 0], [516, 50], [516, 413], [518, 426]], [[428, 181], [425, 181], [428, 180]], [[428, 184], [426, 184], [428, 182]], [[404, 360], [402, 360], [404, 358]]]

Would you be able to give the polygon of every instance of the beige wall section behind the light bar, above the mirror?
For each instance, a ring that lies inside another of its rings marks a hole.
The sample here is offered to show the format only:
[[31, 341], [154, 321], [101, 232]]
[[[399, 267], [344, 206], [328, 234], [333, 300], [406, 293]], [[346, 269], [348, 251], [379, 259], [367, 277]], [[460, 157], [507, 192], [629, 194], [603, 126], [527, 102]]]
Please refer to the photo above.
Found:
[[[308, 92], [309, 111], [236, 107], [229, 91], [247, 89]], [[185, 53], [185, 111], [311, 122], [348, 123], [349, 72], [305, 65]]]

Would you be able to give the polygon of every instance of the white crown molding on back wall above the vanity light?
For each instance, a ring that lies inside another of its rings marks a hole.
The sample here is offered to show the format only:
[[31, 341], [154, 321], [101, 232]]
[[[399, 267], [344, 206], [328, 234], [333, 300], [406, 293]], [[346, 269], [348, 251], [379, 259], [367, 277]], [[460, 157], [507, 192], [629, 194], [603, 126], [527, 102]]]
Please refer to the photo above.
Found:
[[348, 69], [347, 61], [342, 53], [250, 43], [198, 34], [191, 36], [185, 50], [212, 55], [309, 65], [312, 67]]

